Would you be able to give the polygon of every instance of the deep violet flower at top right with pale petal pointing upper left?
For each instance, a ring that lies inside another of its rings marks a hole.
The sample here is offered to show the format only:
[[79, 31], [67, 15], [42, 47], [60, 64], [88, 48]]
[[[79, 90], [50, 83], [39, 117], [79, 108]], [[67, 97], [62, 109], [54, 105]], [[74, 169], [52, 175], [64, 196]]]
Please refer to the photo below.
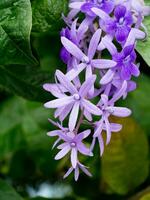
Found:
[[127, 39], [133, 19], [131, 12], [125, 6], [118, 5], [115, 8], [114, 18], [97, 8], [93, 8], [92, 11], [102, 19], [101, 26], [103, 29], [110, 35], [115, 36], [118, 42], [122, 43]]

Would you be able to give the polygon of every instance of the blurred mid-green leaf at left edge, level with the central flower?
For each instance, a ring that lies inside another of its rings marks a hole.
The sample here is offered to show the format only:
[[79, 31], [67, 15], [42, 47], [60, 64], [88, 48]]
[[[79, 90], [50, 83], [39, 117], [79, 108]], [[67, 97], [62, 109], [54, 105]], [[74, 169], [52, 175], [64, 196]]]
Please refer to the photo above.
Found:
[[0, 110], [0, 158], [24, 147], [48, 151], [47, 118], [52, 117], [51, 111], [17, 97], [1, 103]]

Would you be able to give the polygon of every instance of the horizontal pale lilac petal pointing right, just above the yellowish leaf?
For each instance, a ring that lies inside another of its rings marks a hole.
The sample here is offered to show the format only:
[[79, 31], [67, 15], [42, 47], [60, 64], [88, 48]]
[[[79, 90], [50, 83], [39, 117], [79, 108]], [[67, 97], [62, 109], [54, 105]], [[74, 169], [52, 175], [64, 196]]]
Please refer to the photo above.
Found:
[[110, 112], [110, 114], [117, 116], [117, 117], [128, 117], [131, 115], [131, 110], [128, 108], [123, 107], [107, 107], [107, 111]]

